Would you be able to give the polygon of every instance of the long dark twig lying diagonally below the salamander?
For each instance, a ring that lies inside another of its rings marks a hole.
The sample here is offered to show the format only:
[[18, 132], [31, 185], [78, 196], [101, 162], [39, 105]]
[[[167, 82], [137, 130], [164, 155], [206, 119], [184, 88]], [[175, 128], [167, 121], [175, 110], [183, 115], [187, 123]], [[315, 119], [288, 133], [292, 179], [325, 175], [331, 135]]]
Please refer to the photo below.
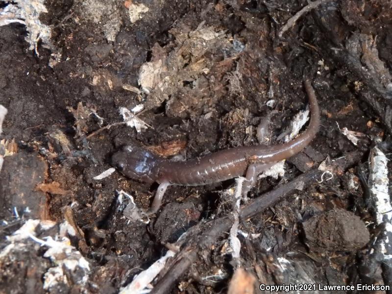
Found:
[[[316, 169], [303, 173], [290, 183], [249, 201], [241, 209], [241, 218], [248, 219], [260, 214], [264, 209], [289, 195], [298, 186], [305, 187], [311, 184], [312, 179], [319, 176], [320, 173], [321, 171]], [[167, 265], [166, 274], [158, 281], [150, 294], [170, 293], [174, 283], [195, 263], [199, 255], [208, 256], [211, 246], [215, 244], [223, 232], [230, 228], [233, 221], [234, 217], [229, 215], [193, 228], [193, 232], [188, 235], [187, 245]]]

